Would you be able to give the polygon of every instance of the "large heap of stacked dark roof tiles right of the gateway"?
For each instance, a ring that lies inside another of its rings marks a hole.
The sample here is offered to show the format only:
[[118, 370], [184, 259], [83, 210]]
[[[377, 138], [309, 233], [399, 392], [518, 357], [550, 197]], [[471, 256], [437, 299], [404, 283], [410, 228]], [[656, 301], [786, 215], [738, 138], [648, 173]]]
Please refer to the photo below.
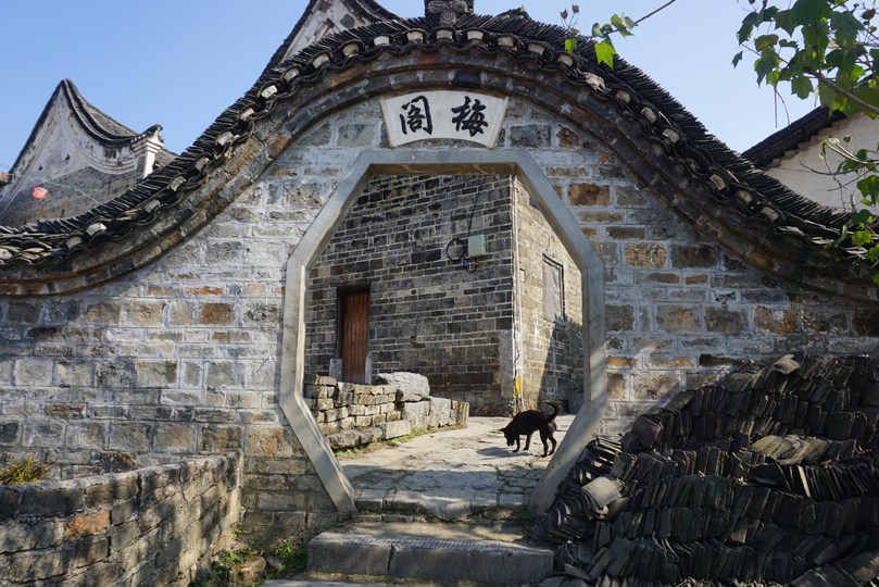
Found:
[[[788, 355], [590, 442], [536, 536], [599, 587], [879, 585], [875, 357]], [[548, 586], [551, 587], [551, 586]]]

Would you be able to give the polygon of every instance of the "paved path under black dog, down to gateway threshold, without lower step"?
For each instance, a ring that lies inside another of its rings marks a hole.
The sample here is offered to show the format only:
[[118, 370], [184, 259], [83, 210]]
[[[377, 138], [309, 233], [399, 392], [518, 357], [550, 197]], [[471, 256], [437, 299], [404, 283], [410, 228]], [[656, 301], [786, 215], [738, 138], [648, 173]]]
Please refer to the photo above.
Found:
[[[561, 444], [573, 415], [560, 415]], [[550, 457], [535, 433], [528, 453], [514, 453], [499, 430], [507, 417], [470, 417], [467, 427], [420, 436], [342, 469], [361, 512], [423, 512], [459, 520], [490, 510], [522, 511]], [[524, 447], [524, 438], [523, 438]]]

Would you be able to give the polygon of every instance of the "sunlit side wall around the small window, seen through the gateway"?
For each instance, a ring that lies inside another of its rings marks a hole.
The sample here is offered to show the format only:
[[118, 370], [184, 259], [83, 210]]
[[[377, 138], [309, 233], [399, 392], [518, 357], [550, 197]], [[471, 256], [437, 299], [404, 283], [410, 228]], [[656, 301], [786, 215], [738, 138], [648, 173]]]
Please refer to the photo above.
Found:
[[[535, 207], [516, 184], [516, 311], [522, 353], [522, 395], [525, 409], [549, 410], [556, 400], [567, 407], [568, 397], [583, 392], [582, 286], [580, 271]], [[561, 267], [563, 313], [544, 315], [544, 264]], [[576, 401], [575, 401], [576, 403]]]

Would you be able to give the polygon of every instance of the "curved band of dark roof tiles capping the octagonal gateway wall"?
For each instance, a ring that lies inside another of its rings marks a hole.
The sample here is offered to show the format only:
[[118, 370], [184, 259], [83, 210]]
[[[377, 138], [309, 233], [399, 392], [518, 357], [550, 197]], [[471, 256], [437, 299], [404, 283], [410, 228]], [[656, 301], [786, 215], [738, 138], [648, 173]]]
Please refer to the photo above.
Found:
[[[756, 170], [708, 134], [637, 67], [621, 59], [615, 61], [613, 70], [598, 64], [592, 41], [580, 41], [572, 58], [563, 50], [565, 38], [561, 27], [519, 13], [467, 15], [459, 18], [454, 27], [439, 26], [436, 17], [382, 21], [330, 35], [269, 67], [186, 152], [120, 198], [72, 218], [18, 228], [0, 226], [0, 266], [71, 260], [126, 236], [135, 226], [152, 224], [168, 215], [185, 193], [203, 184], [211, 171], [250, 137], [254, 120], [271, 113], [279, 97], [291, 96], [302, 85], [318, 83], [327, 72], [373, 61], [386, 51], [400, 55], [442, 47], [505, 52], [531, 60], [543, 70], [561, 72], [578, 87], [589, 88], [597, 98], [615, 103], [624, 116], [638, 121], [650, 140], [662, 147], [667, 162], [706, 186], [712, 199], [727, 207], [725, 213], [732, 211], [736, 217], [730, 216], [730, 222], [746, 224], [748, 232], [753, 233], [749, 237], [764, 247], [783, 245], [783, 237], [794, 237], [799, 247], [818, 251], [849, 224], [849, 214], [812, 202]], [[698, 223], [698, 217], [690, 214], [691, 222]], [[844, 245], [847, 246], [832, 249], [842, 259], [864, 253], [851, 242]], [[791, 245], [784, 248], [790, 253]], [[836, 272], [833, 279], [852, 277], [839, 267], [828, 270], [826, 259], [821, 262], [826, 272]]]

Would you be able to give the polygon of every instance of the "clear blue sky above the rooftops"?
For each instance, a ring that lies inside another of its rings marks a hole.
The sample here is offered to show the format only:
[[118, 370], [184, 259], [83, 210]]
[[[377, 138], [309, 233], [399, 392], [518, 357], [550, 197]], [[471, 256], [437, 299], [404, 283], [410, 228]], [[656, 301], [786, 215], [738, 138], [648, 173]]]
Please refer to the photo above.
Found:
[[[401, 16], [420, 0], [385, 0]], [[476, 0], [497, 14], [523, 0]], [[614, 12], [639, 18], [665, 0], [583, 2], [581, 30]], [[181, 152], [256, 80], [301, 16], [304, 0], [45, 0], [7, 2], [0, 34], [0, 171], [18, 155], [58, 83], [118, 122], [142, 132], [163, 126], [165, 147]], [[569, 4], [568, 4], [569, 5]], [[668, 90], [710, 132], [742, 151], [787, 125], [783, 105], [757, 88], [749, 64], [730, 64], [746, 0], [677, 0], [616, 47]], [[561, 2], [525, 0], [536, 20], [561, 24]], [[814, 107], [788, 95], [790, 120]], [[778, 126], [776, 125], [778, 110]]]

